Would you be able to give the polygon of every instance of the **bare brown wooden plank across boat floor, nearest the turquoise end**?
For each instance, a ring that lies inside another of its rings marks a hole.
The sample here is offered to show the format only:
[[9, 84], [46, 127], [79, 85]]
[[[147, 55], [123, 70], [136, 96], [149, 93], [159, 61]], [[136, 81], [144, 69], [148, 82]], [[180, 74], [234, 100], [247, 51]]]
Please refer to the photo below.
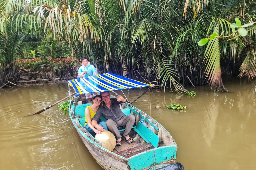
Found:
[[116, 154], [123, 156], [123, 157], [130, 157], [130, 156], [136, 155], [138, 153], [141, 153], [146, 150], [153, 149], [153, 148], [155, 148], [155, 147], [151, 143], [146, 143], [146, 144], [143, 144], [143, 145], [140, 145], [137, 147], [133, 147], [133, 148], [130, 148], [127, 150], [117, 152]]

